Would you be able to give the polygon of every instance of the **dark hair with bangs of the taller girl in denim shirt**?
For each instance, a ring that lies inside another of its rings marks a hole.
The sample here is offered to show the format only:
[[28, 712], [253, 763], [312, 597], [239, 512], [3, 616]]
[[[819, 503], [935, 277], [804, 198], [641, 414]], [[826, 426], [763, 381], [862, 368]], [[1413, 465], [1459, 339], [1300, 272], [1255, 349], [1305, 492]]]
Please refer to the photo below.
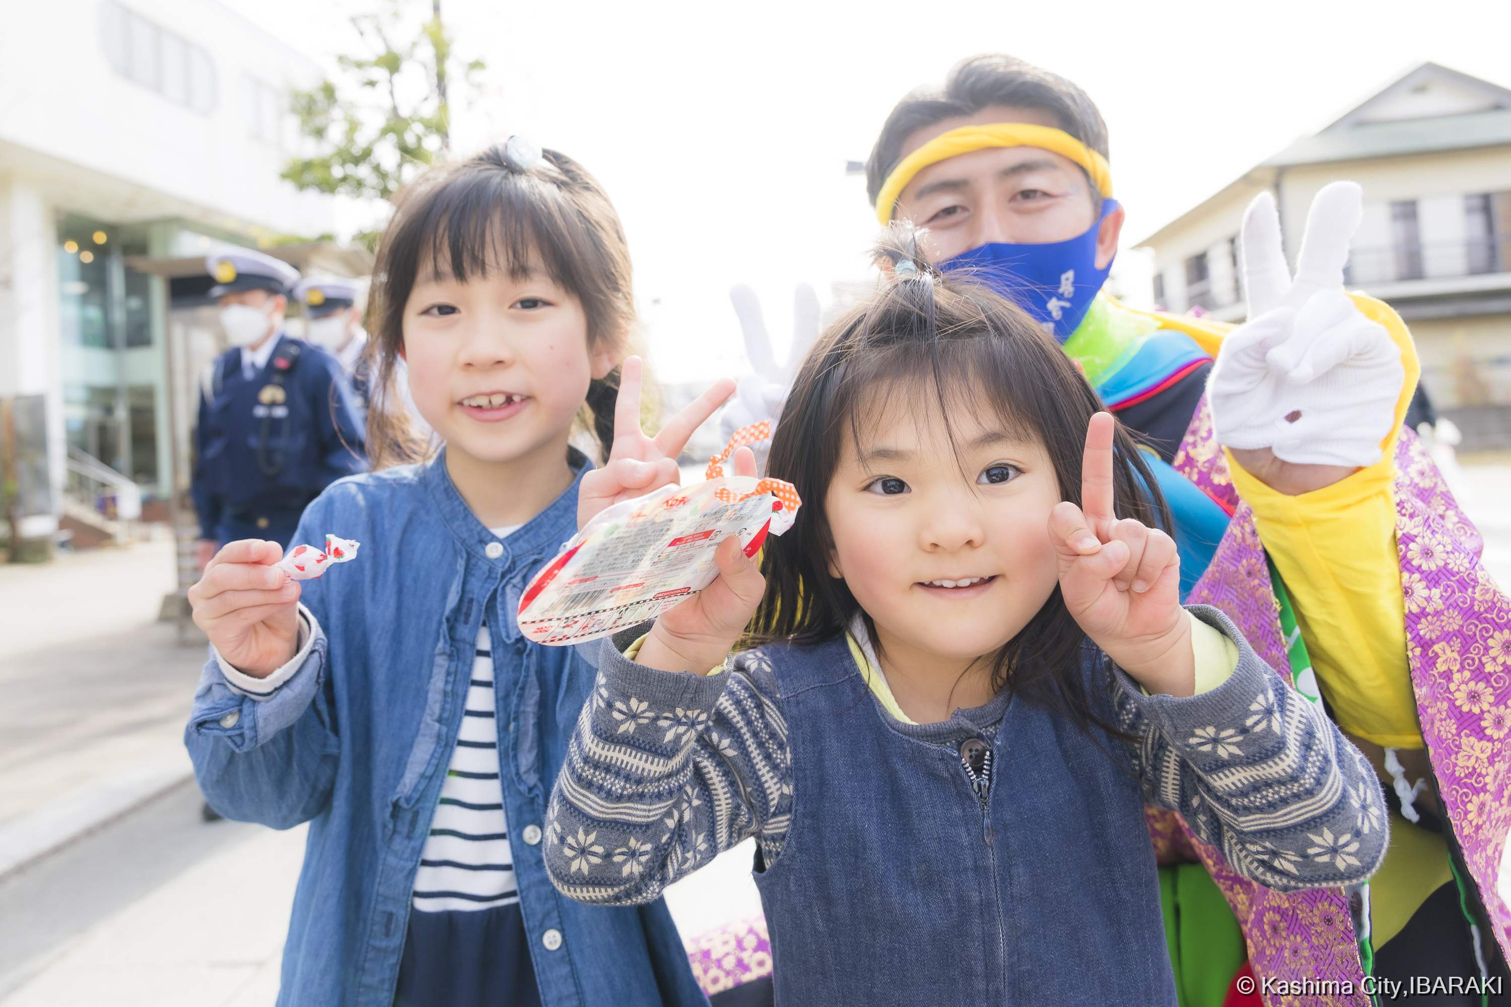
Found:
[[[403, 308], [422, 270], [465, 282], [494, 270], [523, 278], [532, 264], [582, 303], [589, 352], [606, 344], [618, 359], [639, 352], [624, 226], [598, 181], [571, 157], [515, 136], [435, 165], [399, 192], [378, 243], [367, 308], [372, 468], [423, 460], [437, 447], [416, 435], [396, 386]], [[600, 459], [613, 445], [618, 390], [615, 367], [592, 380], [577, 417], [579, 433], [597, 442]], [[654, 390], [648, 376], [647, 390]]]

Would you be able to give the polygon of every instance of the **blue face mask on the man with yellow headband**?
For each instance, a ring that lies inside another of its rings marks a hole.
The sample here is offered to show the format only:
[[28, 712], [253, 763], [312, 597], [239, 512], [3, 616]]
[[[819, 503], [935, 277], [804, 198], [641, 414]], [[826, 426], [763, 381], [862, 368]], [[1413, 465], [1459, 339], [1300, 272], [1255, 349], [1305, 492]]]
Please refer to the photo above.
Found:
[[946, 258], [938, 267], [955, 279], [985, 282], [1038, 319], [1046, 332], [1064, 343], [1086, 317], [1112, 269], [1111, 260], [1097, 269], [1097, 234], [1102, 231], [1102, 220], [1117, 208], [1117, 199], [1103, 199], [1102, 217], [1089, 231], [1068, 242], [991, 242]]

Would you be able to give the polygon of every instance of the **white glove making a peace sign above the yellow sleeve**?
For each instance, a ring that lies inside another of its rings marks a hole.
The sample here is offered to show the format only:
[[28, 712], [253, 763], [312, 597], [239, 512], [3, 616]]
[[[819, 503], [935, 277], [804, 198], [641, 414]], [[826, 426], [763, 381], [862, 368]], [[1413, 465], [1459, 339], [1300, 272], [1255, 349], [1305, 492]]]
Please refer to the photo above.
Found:
[[1248, 322], [1222, 340], [1207, 397], [1218, 442], [1296, 465], [1373, 465], [1396, 421], [1405, 367], [1386, 328], [1343, 293], [1348, 245], [1363, 213], [1352, 181], [1322, 187], [1292, 279], [1275, 201], [1244, 214]]

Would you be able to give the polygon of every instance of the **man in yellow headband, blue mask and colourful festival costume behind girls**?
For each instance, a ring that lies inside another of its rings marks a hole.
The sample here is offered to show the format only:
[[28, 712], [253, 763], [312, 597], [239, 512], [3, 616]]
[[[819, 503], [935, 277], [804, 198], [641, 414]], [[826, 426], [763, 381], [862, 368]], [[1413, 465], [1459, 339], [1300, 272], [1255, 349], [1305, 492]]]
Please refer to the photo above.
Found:
[[[943, 89], [914, 92], [887, 118], [867, 184], [881, 222], [928, 228], [943, 272], [1017, 300], [1144, 435], [1179, 525], [1182, 589], [1265, 642], [1395, 793], [1375, 882], [1316, 904], [1245, 886], [1183, 823], [1151, 817], [1183, 1005], [1250, 992], [1241, 965], [1355, 992], [1372, 974], [1494, 980], [1505, 993], [1511, 910], [1496, 870], [1511, 800], [1494, 767], [1511, 756], [1511, 607], [1401, 427], [1419, 373], [1405, 326], [1342, 293], [1358, 187], [1318, 196], [1295, 276], [1274, 204], [1256, 199], [1244, 226], [1250, 322], [1230, 334], [1102, 293], [1123, 226], [1106, 125], [1085, 92], [1043, 69], [981, 56]], [[1485, 654], [1502, 637], [1505, 652]], [[1268, 992], [1260, 981], [1266, 1002], [1302, 989]]]

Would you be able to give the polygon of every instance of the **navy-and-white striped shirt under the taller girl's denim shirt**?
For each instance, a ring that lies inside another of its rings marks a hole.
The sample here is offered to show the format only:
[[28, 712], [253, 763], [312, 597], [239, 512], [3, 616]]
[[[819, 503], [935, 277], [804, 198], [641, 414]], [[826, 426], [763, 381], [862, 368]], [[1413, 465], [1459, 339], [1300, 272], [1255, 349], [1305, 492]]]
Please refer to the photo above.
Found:
[[[514, 528], [491, 528], [503, 537]], [[414, 876], [420, 912], [477, 912], [520, 901], [509, 850], [509, 823], [499, 784], [499, 725], [494, 717], [488, 625], [477, 630], [471, 687], [441, 800]]]

